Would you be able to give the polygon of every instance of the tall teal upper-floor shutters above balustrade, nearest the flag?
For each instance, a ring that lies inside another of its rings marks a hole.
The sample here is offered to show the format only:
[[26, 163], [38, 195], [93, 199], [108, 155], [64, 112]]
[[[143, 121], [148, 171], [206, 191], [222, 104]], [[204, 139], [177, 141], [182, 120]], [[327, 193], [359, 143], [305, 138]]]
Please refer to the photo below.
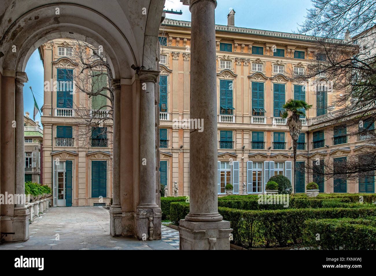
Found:
[[73, 70], [58, 68], [57, 107], [73, 108]]

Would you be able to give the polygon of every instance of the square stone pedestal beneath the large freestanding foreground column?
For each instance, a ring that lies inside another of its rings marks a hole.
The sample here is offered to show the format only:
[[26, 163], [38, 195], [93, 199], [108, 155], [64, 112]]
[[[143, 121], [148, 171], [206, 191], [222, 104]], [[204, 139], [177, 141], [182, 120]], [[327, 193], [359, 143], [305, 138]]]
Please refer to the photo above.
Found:
[[180, 220], [180, 250], [230, 250], [230, 222]]

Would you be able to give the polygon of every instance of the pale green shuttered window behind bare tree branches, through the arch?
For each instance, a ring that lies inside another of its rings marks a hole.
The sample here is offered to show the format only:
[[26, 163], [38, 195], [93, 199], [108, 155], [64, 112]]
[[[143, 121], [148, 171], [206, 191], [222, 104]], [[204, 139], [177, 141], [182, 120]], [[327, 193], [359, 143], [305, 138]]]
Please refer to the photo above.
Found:
[[108, 86], [107, 73], [94, 71], [91, 76], [91, 91], [92, 93], [100, 93], [99, 95], [91, 96], [91, 108], [93, 110], [107, 109], [107, 90]]

